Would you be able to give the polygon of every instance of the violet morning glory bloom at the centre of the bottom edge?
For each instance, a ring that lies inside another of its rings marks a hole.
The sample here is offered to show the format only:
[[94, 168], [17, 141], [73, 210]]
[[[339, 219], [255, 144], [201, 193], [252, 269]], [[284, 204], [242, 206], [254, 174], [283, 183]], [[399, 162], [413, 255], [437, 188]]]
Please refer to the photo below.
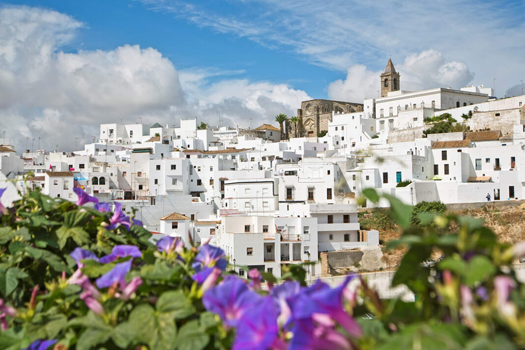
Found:
[[[279, 334], [277, 309], [270, 296], [254, 304], [241, 317], [232, 350], [266, 350]], [[254, 315], [257, 315], [254, 317]]]

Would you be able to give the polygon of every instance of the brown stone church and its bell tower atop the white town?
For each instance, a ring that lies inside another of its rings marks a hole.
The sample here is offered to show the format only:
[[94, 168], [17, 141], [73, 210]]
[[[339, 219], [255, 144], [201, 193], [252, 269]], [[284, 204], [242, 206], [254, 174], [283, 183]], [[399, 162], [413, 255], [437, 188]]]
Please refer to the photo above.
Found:
[[[381, 97], [388, 92], [400, 89], [400, 74], [396, 72], [391, 59], [388, 59], [385, 71], [381, 73]], [[328, 131], [328, 122], [332, 121], [332, 112], [354, 113], [362, 112], [362, 103], [342, 102], [332, 100], [302, 101], [297, 110], [299, 122], [294, 124], [288, 119], [285, 124], [286, 138], [317, 137], [322, 131]], [[296, 128], [298, 130], [296, 131]]]

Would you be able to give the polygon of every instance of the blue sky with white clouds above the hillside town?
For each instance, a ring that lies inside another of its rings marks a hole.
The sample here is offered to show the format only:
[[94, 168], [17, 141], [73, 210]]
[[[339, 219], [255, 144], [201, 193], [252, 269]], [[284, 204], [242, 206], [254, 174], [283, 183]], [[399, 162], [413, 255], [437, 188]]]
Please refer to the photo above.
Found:
[[302, 100], [376, 97], [390, 56], [404, 90], [515, 95], [524, 17], [523, 1], [4, 2], [0, 130], [54, 149], [108, 121], [273, 122]]

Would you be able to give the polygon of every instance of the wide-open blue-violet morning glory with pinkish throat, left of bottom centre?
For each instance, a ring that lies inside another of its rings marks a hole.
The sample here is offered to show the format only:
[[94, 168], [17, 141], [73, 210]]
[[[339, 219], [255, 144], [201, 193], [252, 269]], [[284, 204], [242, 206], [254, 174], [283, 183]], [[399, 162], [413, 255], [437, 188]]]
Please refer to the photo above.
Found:
[[249, 290], [243, 280], [233, 275], [206, 291], [202, 298], [206, 310], [218, 314], [230, 327], [236, 327], [240, 317], [261, 301], [262, 296]]

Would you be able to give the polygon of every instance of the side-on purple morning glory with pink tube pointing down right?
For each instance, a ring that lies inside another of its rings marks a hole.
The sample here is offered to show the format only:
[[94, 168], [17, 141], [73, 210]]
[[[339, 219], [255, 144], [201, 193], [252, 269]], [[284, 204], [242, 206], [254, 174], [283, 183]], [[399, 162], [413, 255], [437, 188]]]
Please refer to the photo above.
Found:
[[316, 283], [310, 288], [301, 290], [292, 301], [293, 319], [296, 321], [308, 320], [311, 319], [314, 313], [328, 314], [335, 321], [339, 322], [349, 334], [361, 336], [361, 327], [344, 311], [342, 306], [343, 290], [353, 278], [355, 278], [355, 275], [349, 275], [339, 287], [333, 289], [328, 287], [328, 285], [323, 287], [321, 284]]

